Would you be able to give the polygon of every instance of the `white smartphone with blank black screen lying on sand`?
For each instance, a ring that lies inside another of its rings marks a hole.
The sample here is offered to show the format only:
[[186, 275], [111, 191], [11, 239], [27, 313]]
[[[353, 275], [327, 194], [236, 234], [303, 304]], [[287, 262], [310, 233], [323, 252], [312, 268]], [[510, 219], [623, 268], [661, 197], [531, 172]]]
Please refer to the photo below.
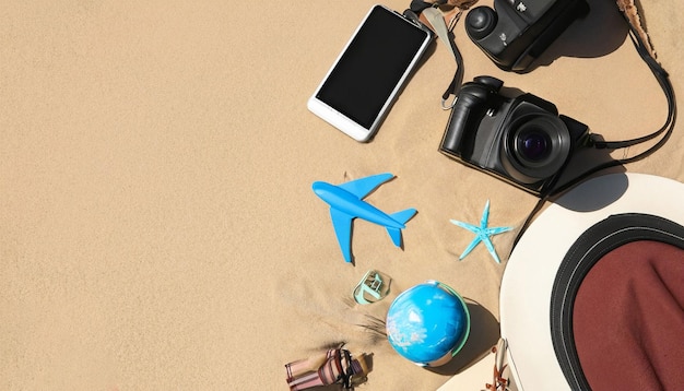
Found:
[[309, 98], [308, 109], [356, 141], [370, 140], [432, 39], [422, 23], [374, 5]]

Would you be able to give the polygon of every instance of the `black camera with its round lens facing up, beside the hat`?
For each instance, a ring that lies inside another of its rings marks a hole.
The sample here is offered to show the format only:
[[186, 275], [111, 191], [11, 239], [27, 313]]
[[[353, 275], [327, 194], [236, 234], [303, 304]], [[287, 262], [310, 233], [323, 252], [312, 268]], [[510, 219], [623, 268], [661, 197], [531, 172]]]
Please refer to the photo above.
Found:
[[589, 131], [532, 94], [479, 76], [459, 91], [439, 152], [535, 196], [553, 188]]

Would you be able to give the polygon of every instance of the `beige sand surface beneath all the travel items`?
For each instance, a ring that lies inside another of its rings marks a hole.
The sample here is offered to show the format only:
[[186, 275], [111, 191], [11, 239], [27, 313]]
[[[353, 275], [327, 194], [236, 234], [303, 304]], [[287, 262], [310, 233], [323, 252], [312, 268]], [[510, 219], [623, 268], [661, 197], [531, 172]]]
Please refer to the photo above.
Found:
[[[553, 63], [522, 75], [494, 67], [459, 25], [465, 80], [504, 79], [606, 139], [660, 127], [654, 79], [605, 11], [613, 3], [592, 3], [602, 19], [574, 25], [550, 49]], [[285, 363], [346, 341], [373, 354], [363, 389], [434, 390], [486, 353], [505, 261], [483, 247], [458, 261], [471, 236], [448, 220], [475, 223], [490, 199], [492, 225], [519, 229], [536, 199], [437, 152], [448, 118], [440, 94], [453, 72], [440, 44], [372, 143], [307, 111], [372, 4], [5, 2], [1, 389], [284, 390]], [[684, 5], [644, 9], [684, 94]], [[626, 169], [684, 180], [683, 134], [681, 122], [664, 147]], [[356, 265], [345, 264], [310, 185], [382, 171], [398, 178], [368, 201], [418, 210], [405, 248], [359, 221]], [[494, 240], [504, 259], [515, 234]], [[356, 306], [350, 293], [368, 269], [389, 274], [392, 293]], [[479, 304], [469, 351], [441, 374], [358, 325], [428, 279]]]

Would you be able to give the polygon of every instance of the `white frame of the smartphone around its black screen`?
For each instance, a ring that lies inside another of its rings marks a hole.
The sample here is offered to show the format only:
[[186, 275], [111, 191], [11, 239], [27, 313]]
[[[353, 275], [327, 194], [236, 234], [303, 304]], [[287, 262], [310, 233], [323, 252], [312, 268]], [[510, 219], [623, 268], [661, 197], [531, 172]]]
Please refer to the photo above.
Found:
[[[320, 91], [321, 86], [323, 85], [323, 83], [326, 83], [326, 81], [330, 76], [330, 73], [332, 73], [332, 71], [334, 70], [334, 68], [338, 64], [338, 62], [340, 62], [340, 59], [342, 58], [342, 56], [344, 55], [344, 52], [349, 48], [350, 44], [352, 43], [352, 40], [354, 39], [356, 34], [358, 34], [358, 31], [364, 25], [364, 23], [366, 23], [366, 20], [370, 15], [370, 12], [373, 12], [373, 10], [376, 7], [381, 7], [381, 8], [386, 9], [387, 11], [397, 14], [398, 17], [404, 19], [404, 16], [402, 16], [401, 14], [398, 14], [396, 11], [392, 11], [392, 10], [390, 10], [389, 8], [387, 8], [387, 7], [382, 5], [382, 4], [375, 4], [375, 5], [373, 5], [370, 8], [370, 10], [366, 13], [366, 16], [364, 16], [362, 22], [358, 24], [358, 26], [354, 31], [354, 34], [352, 34], [352, 36], [350, 37], [349, 42], [344, 45], [344, 48], [340, 51], [340, 54], [338, 55], [338, 58], [334, 60], [334, 62], [330, 67], [330, 69], [326, 73], [326, 76], [322, 79], [322, 81], [320, 82], [318, 87], [316, 87], [316, 91], [309, 97], [309, 99], [307, 100], [307, 105], [306, 105], [308, 110], [311, 111], [312, 114], [315, 114], [317, 117], [321, 118], [326, 122], [330, 123], [334, 128], [339, 129], [340, 131], [342, 131], [343, 133], [345, 133], [346, 135], [351, 137], [352, 139], [356, 140], [358, 142], [367, 142], [375, 135], [375, 133], [377, 132], [378, 128], [380, 127], [380, 123], [382, 122], [382, 120], [387, 116], [389, 109], [391, 108], [391, 106], [393, 105], [394, 100], [397, 99], [397, 95], [399, 94], [399, 91], [405, 84], [406, 79], [409, 78], [411, 72], [415, 69], [415, 67], [417, 66], [418, 61], [421, 60], [421, 58], [425, 54], [425, 50], [427, 50], [427, 47], [429, 46], [429, 43], [432, 42], [432, 38], [433, 38], [432, 35], [426, 32], [425, 39], [423, 40], [423, 44], [421, 45], [421, 47], [416, 51], [415, 56], [413, 57], [413, 59], [409, 63], [409, 67], [406, 67], [406, 70], [404, 71], [403, 75], [401, 76], [401, 79], [399, 80], [399, 82], [397, 83], [394, 88], [392, 90], [392, 93], [389, 95], [388, 99], [382, 105], [382, 108], [380, 109], [380, 111], [378, 112], [378, 116], [373, 121], [373, 125], [370, 126], [369, 129], [364, 128], [363, 126], [358, 125], [353, 119], [346, 117], [342, 112], [335, 110], [334, 108], [330, 107], [326, 103], [323, 103], [320, 99], [318, 99], [316, 97], [316, 95], [318, 95], [318, 92]], [[412, 23], [409, 20], [405, 20], [405, 22], [406, 23]], [[416, 28], [418, 28], [418, 27], [416, 27]]]

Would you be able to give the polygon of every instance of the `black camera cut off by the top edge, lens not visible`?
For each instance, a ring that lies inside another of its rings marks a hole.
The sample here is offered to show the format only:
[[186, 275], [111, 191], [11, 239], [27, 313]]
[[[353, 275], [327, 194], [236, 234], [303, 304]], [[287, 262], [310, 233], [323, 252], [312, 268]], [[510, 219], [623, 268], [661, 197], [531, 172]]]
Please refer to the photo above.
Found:
[[588, 12], [586, 0], [494, 0], [468, 12], [465, 32], [500, 69], [524, 72]]

